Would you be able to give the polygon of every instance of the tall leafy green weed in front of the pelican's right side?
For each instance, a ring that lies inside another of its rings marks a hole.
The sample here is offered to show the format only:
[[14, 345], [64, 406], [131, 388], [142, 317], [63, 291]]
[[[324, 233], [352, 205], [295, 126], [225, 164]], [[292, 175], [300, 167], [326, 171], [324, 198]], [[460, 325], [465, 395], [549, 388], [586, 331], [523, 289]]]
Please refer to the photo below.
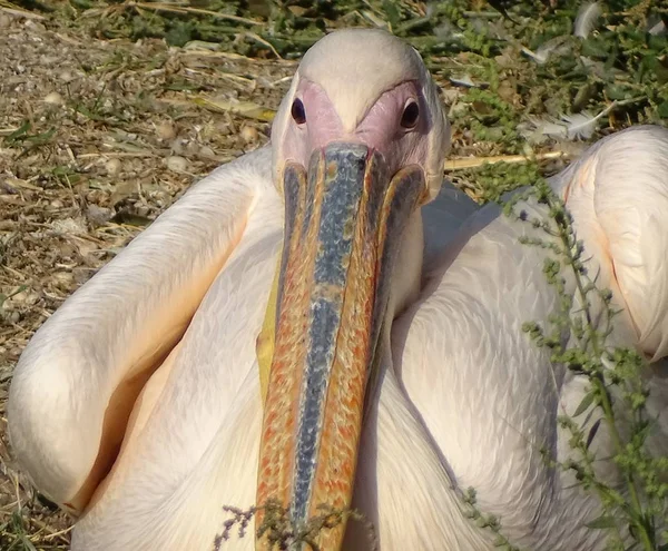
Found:
[[[534, 200], [547, 209], [548, 216], [518, 211], [520, 201]], [[525, 323], [524, 332], [538, 346], [551, 352], [551, 361], [587, 378], [589, 390], [571, 416], [559, 416], [559, 424], [570, 433], [571, 456], [557, 461], [543, 451], [553, 468], [572, 471], [587, 491], [593, 492], [603, 513], [589, 519], [588, 528], [609, 530], [611, 549], [668, 549], [668, 457], [654, 456], [647, 445], [651, 419], [647, 411], [649, 388], [642, 376], [647, 365], [641, 355], [630, 348], [610, 343], [612, 324], [618, 311], [612, 293], [597, 286], [587, 269], [586, 252], [577, 238], [572, 217], [549, 184], [540, 179], [529, 190], [515, 194], [504, 206], [505, 214], [541, 229], [546, 237], [524, 237], [527, 246], [544, 249], [543, 273], [561, 302], [546, 322]], [[567, 289], [567, 279], [574, 282], [574, 294]], [[563, 331], [573, 338], [563, 344]], [[592, 410], [601, 419], [584, 429], [584, 414]], [[597, 457], [591, 443], [602, 423], [613, 443], [613, 457], [622, 476], [622, 488], [601, 480], [595, 469]], [[625, 533], [635, 542], [628, 548]]]

